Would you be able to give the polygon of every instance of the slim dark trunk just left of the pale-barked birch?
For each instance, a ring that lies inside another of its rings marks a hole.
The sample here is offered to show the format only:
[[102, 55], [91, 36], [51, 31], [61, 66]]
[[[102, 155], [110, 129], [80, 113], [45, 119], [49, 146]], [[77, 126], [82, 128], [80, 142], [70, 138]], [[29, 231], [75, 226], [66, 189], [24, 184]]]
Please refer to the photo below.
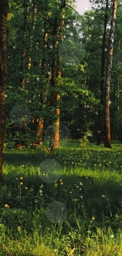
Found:
[[101, 130], [102, 130], [102, 110], [103, 110], [103, 95], [104, 95], [104, 68], [105, 68], [105, 41], [106, 41], [106, 28], [107, 28], [107, 11], [108, 11], [108, 0], [106, 1], [105, 20], [104, 20], [104, 34], [103, 34], [103, 48], [102, 48], [102, 63], [101, 63], [101, 95], [100, 105], [98, 114], [98, 135], [97, 145], [101, 144]]

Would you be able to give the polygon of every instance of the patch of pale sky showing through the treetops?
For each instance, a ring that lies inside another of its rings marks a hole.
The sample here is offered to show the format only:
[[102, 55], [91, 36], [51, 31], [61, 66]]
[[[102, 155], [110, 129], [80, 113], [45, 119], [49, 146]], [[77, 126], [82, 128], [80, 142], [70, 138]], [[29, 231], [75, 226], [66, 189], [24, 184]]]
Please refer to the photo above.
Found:
[[76, 6], [76, 10], [80, 14], [83, 14], [85, 12], [85, 8], [91, 9], [91, 4], [89, 0], [76, 0]]

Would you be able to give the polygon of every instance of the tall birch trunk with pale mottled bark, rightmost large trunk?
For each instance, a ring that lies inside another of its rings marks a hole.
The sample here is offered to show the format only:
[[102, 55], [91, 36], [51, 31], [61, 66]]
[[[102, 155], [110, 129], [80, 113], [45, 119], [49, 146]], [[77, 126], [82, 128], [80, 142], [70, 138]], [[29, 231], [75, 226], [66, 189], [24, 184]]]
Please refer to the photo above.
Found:
[[110, 26], [110, 35], [109, 35], [109, 47], [108, 47], [108, 60], [107, 60], [107, 74], [106, 74], [106, 93], [105, 93], [105, 133], [104, 133], [104, 147], [112, 148], [110, 142], [110, 72], [112, 66], [112, 54], [113, 54], [113, 41], [114, 41], [114, 29], [115, 29], [115, 20], [116, 20], [116, 11], [117, 11], [117, 0], [113, 1], [113, 11], [111, 18]]

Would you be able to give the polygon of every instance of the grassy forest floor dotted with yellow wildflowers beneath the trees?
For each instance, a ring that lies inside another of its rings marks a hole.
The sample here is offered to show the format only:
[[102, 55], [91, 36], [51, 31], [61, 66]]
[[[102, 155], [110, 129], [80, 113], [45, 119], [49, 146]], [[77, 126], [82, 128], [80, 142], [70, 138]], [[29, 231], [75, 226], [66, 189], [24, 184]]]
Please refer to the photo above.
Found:
[[0, 256], [122, 255], [122, 145], [5, 146]]

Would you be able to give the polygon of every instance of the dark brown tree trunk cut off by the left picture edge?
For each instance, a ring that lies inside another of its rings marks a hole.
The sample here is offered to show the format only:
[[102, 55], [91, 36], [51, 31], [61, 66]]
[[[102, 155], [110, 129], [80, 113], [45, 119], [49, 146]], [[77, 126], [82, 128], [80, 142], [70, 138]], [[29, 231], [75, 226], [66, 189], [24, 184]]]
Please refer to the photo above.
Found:
[[0, 1], [0, 181], [2, 181], [3, 162], [3, 124], [5, 116], [5, 91], [7, 80], [7, 13], [8, 0]]

